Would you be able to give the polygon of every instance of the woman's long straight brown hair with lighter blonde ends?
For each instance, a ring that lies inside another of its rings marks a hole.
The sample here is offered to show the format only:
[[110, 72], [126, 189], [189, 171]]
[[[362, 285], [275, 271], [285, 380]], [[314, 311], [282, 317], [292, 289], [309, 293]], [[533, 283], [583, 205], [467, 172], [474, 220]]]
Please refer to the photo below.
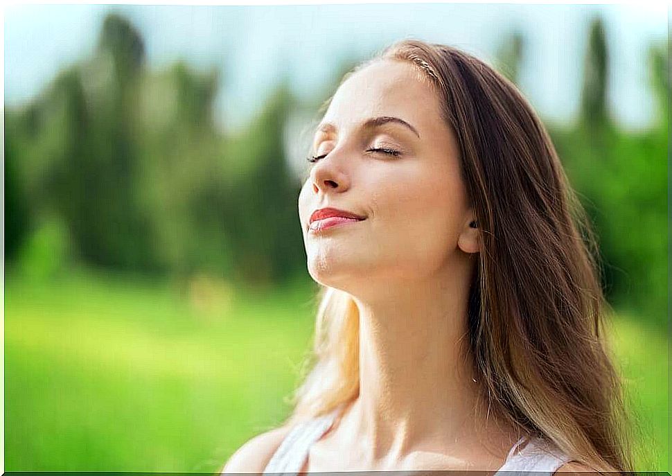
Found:
[[[459, 144], [481, 238], [469, 348], [489, 411], [596, 470], [633, 470], [596, 236], [545, 127], [509, 80], [442, 44], [396, 42], [342, 82], [381, 60], [423, 72]], [[315, 345], [289, 424], [359, 393], [357, 306], [333, 288], [318, 297]]]

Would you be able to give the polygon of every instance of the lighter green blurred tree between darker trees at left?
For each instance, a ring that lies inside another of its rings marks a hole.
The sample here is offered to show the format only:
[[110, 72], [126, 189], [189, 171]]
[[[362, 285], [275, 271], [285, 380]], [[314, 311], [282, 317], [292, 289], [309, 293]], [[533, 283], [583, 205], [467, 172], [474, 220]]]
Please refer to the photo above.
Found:
[[215, 71], [196, 73], [177, 62], [146, 73], [136, 108], [142, 157], [137, 206], [151, 223], [161, 269], [230, 274], [230, 201], [224, 138], [213, 123]]

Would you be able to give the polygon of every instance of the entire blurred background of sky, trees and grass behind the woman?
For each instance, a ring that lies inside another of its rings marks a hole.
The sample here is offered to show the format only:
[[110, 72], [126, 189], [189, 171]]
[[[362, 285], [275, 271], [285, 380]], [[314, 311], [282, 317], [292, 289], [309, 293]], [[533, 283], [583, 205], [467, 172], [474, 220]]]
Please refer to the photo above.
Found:
[[14, 6], [5, 469], [215, 472], [288, 414], [315, 285], [317, 109], [405, 37], [515, 81], [599, 233], [638, 470], [670, 470], [668, 13], [635, 6]]

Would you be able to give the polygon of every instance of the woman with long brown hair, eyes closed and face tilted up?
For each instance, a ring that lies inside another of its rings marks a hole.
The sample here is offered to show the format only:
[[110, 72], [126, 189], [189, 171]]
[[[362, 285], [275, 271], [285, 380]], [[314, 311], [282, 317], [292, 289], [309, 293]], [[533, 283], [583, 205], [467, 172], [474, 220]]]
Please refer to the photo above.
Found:
[[632, 470], [594, 236], [520, 92], [407, 39], [327, 105], [299, 194], [315, 365], [224, 473]]

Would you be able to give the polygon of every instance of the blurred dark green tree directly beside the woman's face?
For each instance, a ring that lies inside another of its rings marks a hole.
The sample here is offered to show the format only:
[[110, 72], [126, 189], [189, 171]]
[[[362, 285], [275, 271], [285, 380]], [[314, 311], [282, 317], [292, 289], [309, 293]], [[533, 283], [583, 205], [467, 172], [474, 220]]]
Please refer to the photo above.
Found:
[[227, 145], [227, 160], [236, 162], [227, 213], [243, 279], [286, 279], [306, 266], [299, 187], [283, 148], [285, 118], [294, 103], [287, 83], [280, 82], [245, 134]]

